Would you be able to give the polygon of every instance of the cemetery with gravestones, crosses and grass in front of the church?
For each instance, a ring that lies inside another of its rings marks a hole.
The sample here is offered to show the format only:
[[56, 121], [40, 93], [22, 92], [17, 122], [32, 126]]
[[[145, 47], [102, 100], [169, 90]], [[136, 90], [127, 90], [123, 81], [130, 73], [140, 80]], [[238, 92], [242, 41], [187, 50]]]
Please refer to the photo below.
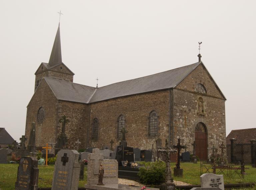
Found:
[[[228, 163], [223, 143], [209, 148], [209, 160], [200, 161], [194, 151], [195, 142], [192, 152], [186, 151], [186, 145], [180, 139], [172, 147], [166, 140], [164, 147], [140, 150], [128, 146], [127, 131], [123, 128], [120, 145], [105, 145], [102, 149], [91, 147], [79, 152], [65, 147], [66, 118], [62, 117], [60, 123], [63, 129], [60, 144], [47, 143], [40, 151], [30, 140], [28, 150], [22, 136], [19, 148], [14, 144], [12, 149], [0, 149], [1, 190], [141, 189], [144, 186], [162, 190], [199, 187], [224, 190], [225, 186], [255, 186], [255, 158], [252, 158], [252, 164], [245, 165], [243, 160]], [[255, 146], [251, 147], [254, 153]], [[187, 153], [189, 158], [184, 156]], [[132, 181], [126, 183], [125, 180]]]

